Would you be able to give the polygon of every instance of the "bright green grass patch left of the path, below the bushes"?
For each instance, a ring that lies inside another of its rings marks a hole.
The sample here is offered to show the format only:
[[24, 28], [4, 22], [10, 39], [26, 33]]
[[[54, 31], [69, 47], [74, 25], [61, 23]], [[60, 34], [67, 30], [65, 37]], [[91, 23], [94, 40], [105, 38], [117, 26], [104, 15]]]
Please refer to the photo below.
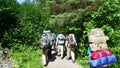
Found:
[[22, 46], [22, 49], [11, 49], [14, 68], [43, 68], [41, 50], [33, 46]]

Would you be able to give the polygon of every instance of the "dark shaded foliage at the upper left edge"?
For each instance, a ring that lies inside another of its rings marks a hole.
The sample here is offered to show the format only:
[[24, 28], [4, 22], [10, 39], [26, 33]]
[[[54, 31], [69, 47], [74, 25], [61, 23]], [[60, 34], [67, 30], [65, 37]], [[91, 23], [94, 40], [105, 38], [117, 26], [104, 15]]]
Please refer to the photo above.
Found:
[[0, 0], [0, 41], [4, 38], [4, 32], [16, 27], [18, 6], [15, 0]]

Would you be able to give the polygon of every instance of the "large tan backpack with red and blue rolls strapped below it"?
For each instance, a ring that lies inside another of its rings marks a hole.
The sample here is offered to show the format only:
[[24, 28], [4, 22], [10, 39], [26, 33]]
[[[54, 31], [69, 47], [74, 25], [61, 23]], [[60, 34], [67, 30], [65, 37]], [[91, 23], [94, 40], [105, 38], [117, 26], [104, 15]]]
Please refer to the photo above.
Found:
[[110, 63], [115, 63], [117, 58], [108, 49], [107, 40], [104, 32], [100, 28], [92, 29], [88, 33], [88, 41], [90, 43], [90, 60], [88, 64], [92, 67], [99, 67]]

